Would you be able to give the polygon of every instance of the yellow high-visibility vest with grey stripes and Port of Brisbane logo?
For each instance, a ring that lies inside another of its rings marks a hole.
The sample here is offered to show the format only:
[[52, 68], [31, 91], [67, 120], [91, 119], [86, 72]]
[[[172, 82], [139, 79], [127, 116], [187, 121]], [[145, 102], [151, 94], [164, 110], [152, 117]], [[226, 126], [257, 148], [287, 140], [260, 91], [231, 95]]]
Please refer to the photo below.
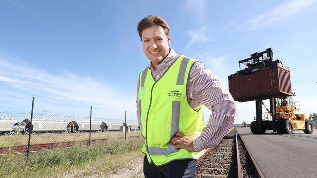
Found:
[[195, 61], [179, 56], [157, 81], [149, 67], [139, 74], [139, 114], [145, 137], [142, 152], [156, 166], [172, 160], [197, 159], [204, 153], [175, 149], [169, 143], [177, 132], [199, 136], [205, 126], [201, 105], [192, 108], [186, 91]]

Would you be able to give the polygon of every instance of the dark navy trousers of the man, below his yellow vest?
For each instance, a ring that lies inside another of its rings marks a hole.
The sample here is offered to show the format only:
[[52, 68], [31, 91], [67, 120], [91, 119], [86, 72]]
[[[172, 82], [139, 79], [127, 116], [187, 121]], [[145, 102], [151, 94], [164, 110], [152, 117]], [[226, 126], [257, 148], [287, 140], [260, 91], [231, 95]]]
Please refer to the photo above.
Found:
[[143, 160], [145, 178], [195, 178], [196, 160], [174, 160], [162, 166], [155, 166]]

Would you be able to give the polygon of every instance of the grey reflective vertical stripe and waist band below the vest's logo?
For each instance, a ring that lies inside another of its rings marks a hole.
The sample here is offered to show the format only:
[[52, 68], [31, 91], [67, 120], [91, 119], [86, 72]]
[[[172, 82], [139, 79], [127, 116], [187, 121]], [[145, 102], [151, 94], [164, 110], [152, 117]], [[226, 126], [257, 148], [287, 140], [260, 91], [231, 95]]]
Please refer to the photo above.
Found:
[[[171, 134], [170, 140], [179, 131], [179, 112], [180, 112], [180, 101], [172, 102], [172, 123], [171, 123]], [[146, 145], [147, 146], [147, 145]], [[147, 147], [150, 155], [170, 155], [172, 153], [178, 152], [179, 150], [175, 148], [174, 145], [167, 143], [167, 148], [161, 147]]]

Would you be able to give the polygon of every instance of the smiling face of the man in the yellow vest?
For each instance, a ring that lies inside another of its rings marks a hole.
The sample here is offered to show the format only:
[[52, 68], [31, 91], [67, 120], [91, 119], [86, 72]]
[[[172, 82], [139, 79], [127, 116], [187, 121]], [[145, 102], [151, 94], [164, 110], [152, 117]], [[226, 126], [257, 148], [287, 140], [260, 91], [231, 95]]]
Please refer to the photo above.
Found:
[[170, 36], [166, 36], [162, 27], [153, 25], [142, 31], [143, 51], [156, 67], [169, 53]]

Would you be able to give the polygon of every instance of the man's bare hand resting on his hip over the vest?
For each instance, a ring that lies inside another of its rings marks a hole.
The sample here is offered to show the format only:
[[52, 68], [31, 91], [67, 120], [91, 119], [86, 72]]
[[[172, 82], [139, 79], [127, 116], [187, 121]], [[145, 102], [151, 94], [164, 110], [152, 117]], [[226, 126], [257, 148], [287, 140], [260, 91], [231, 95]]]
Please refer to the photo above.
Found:
[[172, 138], [171, 144], [175, 145], [176, 149], [183, 148], [190, 152], [196, 152], [194, 148], [194, 140], [196, 137], [192, 136], [185, 136], [184, 134], [177, 132], [176, 135]]

